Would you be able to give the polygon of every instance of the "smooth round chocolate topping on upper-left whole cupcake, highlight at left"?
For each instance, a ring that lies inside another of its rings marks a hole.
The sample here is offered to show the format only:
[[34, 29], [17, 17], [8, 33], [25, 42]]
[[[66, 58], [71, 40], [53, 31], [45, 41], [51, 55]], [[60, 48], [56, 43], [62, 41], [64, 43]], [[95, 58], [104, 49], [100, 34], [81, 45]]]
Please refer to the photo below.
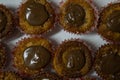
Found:
[[49, 14], [44, 5], [31, 1], [26, 6], [25, 18], [30, 25], [42, 26], [48, 20]]

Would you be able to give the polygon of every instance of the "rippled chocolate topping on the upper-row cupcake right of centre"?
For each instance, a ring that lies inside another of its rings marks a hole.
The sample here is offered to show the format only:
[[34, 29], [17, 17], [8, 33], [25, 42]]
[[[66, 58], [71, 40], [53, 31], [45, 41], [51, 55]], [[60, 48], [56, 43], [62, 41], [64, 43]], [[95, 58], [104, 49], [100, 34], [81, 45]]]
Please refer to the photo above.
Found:
[[81, 26], [84, 23], [85, 10], [78, 4], [70, 4], [66, 8], [65, 21], [71, 26]]

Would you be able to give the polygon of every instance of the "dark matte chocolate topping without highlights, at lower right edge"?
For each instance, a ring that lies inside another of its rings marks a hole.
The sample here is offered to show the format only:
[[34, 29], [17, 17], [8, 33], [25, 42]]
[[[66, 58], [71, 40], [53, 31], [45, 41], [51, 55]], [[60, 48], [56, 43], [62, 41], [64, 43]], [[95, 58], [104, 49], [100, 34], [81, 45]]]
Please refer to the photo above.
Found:
[[116, 74], [120, 72], [120, 56], [109, 54], [102, 58], [101, 70], [105, 74]]

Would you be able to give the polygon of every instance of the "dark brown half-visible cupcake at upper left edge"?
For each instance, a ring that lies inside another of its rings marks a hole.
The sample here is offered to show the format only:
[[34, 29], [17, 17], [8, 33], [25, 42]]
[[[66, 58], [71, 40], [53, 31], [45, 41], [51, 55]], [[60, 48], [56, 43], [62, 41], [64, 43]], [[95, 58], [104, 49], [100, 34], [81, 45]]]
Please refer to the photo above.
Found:
[[12, 12], [0, 4], [0, 38], [8, 36], [12, 32], [13, 26]]

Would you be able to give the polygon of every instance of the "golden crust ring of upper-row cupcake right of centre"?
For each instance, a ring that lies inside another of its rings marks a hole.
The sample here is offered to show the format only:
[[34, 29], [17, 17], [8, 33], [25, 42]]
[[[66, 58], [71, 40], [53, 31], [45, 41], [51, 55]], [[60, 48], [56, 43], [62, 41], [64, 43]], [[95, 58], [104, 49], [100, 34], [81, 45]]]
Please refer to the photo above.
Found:
[[[77, 5], [80, 5], [81, 7], [83, 7], [83, 9], [85, 11], [85, 20], [81, 26], [74, 27], [74, 26], [68, 25], [65, 22], [64, 18], [65, 18], [65, 14], [66, 14], [66, 7], [69, 4], [77, 4]], [[60, 8], [60, 24], [62, 25], [62, 27], [65, 30], [67, 30], [69, 32], [73, 32], [73, 33], [87, 32], [95, 25], [94, 20], [95, 20], [94, 9], [85, 0], [67, 0], [65, 3], [63, 3], [63, 5]]]

